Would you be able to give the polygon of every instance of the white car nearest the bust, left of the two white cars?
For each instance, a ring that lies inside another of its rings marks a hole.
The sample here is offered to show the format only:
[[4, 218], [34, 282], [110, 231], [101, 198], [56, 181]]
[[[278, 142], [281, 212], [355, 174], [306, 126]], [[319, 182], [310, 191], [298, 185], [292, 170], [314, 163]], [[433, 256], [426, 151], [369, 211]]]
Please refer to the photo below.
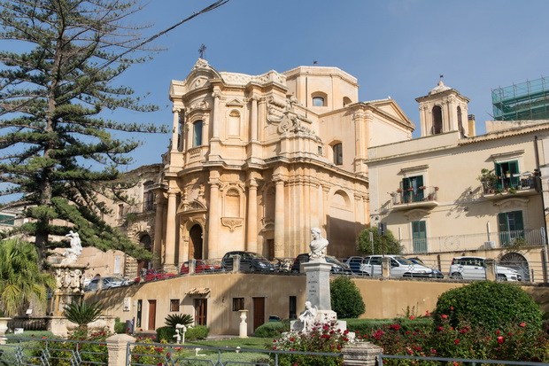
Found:
[[[364, 257], [360, 270], [366, 276], [382, 276], [383, 255], [370, 255]], [[400, 255], [385, 255], [389, 258], [390, 276], [393, 277], [435, 277], [433, 269], [421, 264], [409, 261]]]

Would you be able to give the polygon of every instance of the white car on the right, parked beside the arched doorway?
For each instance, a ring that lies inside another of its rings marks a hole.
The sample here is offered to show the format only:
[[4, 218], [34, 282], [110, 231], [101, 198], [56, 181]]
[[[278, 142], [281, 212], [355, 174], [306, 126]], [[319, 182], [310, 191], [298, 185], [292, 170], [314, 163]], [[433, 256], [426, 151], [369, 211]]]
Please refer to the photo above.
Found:
[[[455, 257], [452, 259], [448, 276], [456, 279], [486, 279], [486, 258]], [[496, 265], [496, 278], [502, 281], [522, 281], [516, 269]]]

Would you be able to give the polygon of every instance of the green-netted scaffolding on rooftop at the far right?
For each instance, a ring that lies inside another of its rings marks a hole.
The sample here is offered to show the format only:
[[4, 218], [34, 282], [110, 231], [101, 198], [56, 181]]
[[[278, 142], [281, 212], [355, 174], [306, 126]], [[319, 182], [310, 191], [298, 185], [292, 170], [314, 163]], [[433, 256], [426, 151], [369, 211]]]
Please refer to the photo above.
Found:
[[496, 121], [549, 119], [549, 77], [491, 90]]

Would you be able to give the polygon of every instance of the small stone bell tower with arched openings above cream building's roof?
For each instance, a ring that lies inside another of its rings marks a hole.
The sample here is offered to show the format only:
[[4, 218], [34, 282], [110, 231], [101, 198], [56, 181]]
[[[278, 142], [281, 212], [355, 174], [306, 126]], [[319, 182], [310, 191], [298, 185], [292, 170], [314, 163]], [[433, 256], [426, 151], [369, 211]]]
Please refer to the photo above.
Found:
[[421, 137], [460, 131], [461, 136], [475, 136], [475, 117], [468, 118], [468, 97], [438, 82], [425, 97], [415, 99], [420, 107]]

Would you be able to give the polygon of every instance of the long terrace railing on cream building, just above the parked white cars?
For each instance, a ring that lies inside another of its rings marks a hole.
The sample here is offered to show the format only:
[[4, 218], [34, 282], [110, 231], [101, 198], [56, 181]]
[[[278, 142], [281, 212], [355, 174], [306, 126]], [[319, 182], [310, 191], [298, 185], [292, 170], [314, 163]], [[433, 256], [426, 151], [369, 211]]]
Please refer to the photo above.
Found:
[[463, 250], [544, 245], [544, 230], [512, 230], [482, 234], [400, 240], [404, 253], [448, 253]]

